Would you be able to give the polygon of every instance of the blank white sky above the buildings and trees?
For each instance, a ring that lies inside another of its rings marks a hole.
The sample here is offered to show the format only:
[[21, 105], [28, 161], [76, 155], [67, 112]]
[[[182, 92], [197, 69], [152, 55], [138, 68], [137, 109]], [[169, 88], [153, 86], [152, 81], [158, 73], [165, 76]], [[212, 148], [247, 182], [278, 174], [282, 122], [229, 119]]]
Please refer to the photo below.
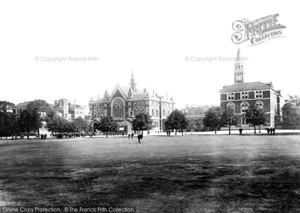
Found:
[[[235, 57], [238, 48], [246, 82], [271, 81], [284, 98], [299, 95], [297, 8], [276, 0], [1, 1], [0, 100], [87, 105], [116, 83], [128, 86], [133, 70], [139, 89], [168, 92], [179, 109], [217, 105], [218, 90], [234, 83], [234, 61], [191, 58]], [[233, 21], [276, 13], [283, 37], [231, 41]]]

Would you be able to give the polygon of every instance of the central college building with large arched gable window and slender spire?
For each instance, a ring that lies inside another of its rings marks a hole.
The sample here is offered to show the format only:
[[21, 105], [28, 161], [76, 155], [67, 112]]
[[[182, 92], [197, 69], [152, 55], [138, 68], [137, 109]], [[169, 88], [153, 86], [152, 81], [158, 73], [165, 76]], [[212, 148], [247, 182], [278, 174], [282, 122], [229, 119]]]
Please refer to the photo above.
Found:
[[139, 90], [136, 88], [133, 72], [129, 86], [116, 84], [109, 94], [105, 90], [103, 98], [89, 101], [90, 130], [97, 131], [99, 121], [102, 117], [111, 116], [118, 123], [120, 132], [132, 132], [132, 119], [135, 115], [145, 113], [151, 116], [153, 121], [153, 132], [162, 132], [164, 121], [174, 110], [175, 102], [172, 97], [158, 95], [152, 90], [150, 93], [146, 88]]

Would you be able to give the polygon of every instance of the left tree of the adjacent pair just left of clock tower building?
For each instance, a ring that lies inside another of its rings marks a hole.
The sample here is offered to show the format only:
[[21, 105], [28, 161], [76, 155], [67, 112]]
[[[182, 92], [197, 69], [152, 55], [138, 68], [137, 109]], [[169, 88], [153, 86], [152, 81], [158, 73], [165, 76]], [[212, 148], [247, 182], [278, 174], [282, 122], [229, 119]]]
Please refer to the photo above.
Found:
[[222, 126], [221, 119], [221, 108], [211, 107], [205, 112], [205, 117], [203, 118], [203, 123], [206, 127], [214, 128], [214, 134], [218, 127]]

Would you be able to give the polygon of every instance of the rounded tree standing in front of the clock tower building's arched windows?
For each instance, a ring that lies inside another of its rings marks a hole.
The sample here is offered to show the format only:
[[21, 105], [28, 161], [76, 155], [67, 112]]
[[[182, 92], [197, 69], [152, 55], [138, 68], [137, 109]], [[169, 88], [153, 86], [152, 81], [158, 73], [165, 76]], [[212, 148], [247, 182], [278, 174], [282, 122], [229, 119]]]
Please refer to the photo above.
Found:
[[254, 134], [256, 134], [256, 126], [265, 125], [268, 122], [268, 117], [263, 109], [260, 109], [255, 104], [251, 104], [244, 115], [246, 121], [254, 126]]

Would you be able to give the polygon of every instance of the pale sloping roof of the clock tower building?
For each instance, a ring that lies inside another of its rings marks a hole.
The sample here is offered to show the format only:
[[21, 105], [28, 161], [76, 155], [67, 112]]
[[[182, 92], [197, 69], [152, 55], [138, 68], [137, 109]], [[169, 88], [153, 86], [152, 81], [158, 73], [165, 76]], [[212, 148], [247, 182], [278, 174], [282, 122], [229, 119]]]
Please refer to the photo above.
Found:
[[250, 90], [250, 89], [270, 89], [270, 85], [261, 82], [248, 82], [248, 83], [235, 83], [228, 86], [223, 86], [223, 89], [219, 92], [231, 92], [239, 90]]

